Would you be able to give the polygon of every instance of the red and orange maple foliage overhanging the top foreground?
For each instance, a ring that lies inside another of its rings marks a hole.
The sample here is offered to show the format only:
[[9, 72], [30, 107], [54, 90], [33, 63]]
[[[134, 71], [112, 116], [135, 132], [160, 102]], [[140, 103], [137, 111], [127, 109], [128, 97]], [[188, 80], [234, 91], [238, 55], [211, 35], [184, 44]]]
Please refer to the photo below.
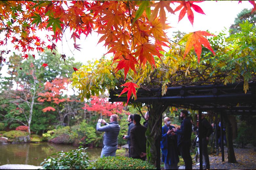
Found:
[[[56, 42], [63, 41], [65, 31], [71, 32], [73, 49], [80, 50], [76, 39], [88, 36], [93, 31], [104, 41], [107, 53], [113, 53], [117, 62], [116, 71], [134, 71], [148, 62], [155, 66], [154, 56], [161, 58], [163, 47], [170, 46], [166, 30], [166, 10], [172, 14], [180, 11], [179, 21], [187, 14], [191, 24], [194, 12], [204, 14], [199, 5], [202, 1], [1, 1], [0, 45], [11, 41], [14, 48], [23, 52], [27, 59], [31, 51], [42, 52], [45, 48], [56, 49]], [[250, 1], [255, 10], [255, 2]], [[36, 30], [46, 30], [45, 37], [36, 35]], [[187, 35], [186, 53], [194, 46], [200, 60], [202, 45], [213, 52], [205, 38], [211, 34], [197, 31]], [[66, 59], [65, 54], [61, 59]], [[0, 62], [5, 58], [1, 56]], [[45, 63], [47, 64], [47, 63]], [[46, 65], [44, 65], [46, 66]], [[74, 67], [74, 71], [78, 71]], [[133, 80], [129, 81], [130, 83]], [[125, 91], [134, 94], [136, 86], [126, 86]]]

